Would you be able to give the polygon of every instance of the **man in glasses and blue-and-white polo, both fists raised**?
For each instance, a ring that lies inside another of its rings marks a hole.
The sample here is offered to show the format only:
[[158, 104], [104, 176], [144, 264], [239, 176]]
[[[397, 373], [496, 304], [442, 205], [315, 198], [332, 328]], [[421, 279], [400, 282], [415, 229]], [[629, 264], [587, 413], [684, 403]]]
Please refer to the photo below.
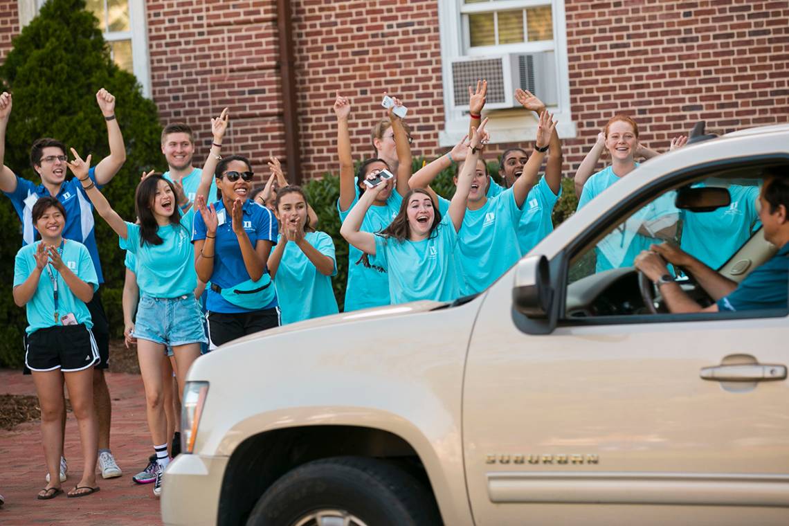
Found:
[[[99, 188], [106, 185], [115, 173], [123, 166], [126, 160], [126, 150], [123, 136], [115, 119], [115, 98], [104, 88], [96, 93], [96, 102], [107, 121], [107, 135], [110, 143], [110, 155], [102, 159], [99, 164], [92, 167], [89, 177]], [[36, 240], [36, 230], [32, 224], [32, 208], [39, 197], [54, 196], [65, 208], [66, 221], [63, 237], [79, 241], [88, 248], [99, 284], [104, 282], [99, 251], [96, 248], [93, 207], [85, 195], [82, 185], [76, 178], [65, 180], [66, 155], [65, 144], [54, 139], [39, 139], [33, 144], [30, 151], [30, 162], [33, 170], [41, 177], [41, 184], [19, 177], [8, 166], [3, 165], [6, 153], [6, 126], [11, 114], [11, 95], [0, 95], [0, 190], [11, 200], [17, 215], [22, 222], [22, 244], [30, 244]], [[115, 463], [110, 453], [110, 392], [107, 390], [107, 381], [104, 379], [104, 369], [109, 360], [109, 326], [107, 315], [99, 296], [99, 291], [93, 295], [93, 300], [88, 304], [93, 321], [92, 333], [96, 345], [99, 347], [101, 360], [94, 367], [93, 400], [96, 413], [99, 416], [99, 464], [104, 478], [121, 476], [122, 472]], [[63, 414], [65, 426], [65, 411]], [[61, 478], [65, 479], [65, 461], [61, 461]]]

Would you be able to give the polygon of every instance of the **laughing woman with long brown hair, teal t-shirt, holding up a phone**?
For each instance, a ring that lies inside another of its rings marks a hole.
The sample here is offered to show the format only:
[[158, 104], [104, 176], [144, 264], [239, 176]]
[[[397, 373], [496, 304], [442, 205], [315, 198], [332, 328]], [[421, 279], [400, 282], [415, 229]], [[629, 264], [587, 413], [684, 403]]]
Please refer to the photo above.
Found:
[[342, 224], [342, 237], [371, 256], [368, 264], [372, 269], [387, 273], [392, 304], [452, 301], [460, 295], [455, 270], [458, 230], [466, 215], [466, 199], [481, 147], [488, 141], [486, 123], [487, 119], [471, 138], [469, 154], [445, 217], [441, 217], [438, 204], [428, 190], [414, 188], [403, 198], [391, 225], [376, 234], [362, 232], [361, 223], [368, 208], [376, 200], [376, 194], [383, 191], [383, 185], [379, 184], [361, 196]]

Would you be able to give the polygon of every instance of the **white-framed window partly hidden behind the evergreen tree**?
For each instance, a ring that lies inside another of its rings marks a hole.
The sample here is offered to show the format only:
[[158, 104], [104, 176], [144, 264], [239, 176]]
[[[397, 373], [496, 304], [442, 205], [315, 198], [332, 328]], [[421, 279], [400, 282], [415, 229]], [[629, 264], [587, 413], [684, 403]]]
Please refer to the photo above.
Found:
[[88, 11], [99, 19], [99, 29], [110, 46], [115, 64], [136, 76], [143, 95], [151, 96], [148, 31], [144, 0], [86, 0]]

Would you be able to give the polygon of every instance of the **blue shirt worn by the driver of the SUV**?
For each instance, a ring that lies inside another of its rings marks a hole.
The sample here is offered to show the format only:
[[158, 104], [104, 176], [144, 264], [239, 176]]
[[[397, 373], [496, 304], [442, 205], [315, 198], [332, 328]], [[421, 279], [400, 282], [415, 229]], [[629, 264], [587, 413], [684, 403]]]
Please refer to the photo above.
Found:
[[728, 296], [718, 300], [719, 311], [787, 308], [789, 297], [789, 243], [742, 280]]

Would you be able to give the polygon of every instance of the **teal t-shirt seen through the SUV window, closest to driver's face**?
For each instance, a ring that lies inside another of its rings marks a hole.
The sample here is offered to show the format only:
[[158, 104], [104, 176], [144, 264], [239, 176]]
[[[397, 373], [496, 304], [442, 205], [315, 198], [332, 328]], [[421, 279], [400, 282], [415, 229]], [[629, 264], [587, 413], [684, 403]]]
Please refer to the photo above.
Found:
[[759, 188], [731, 185], [728, 191], [728, 207], [711, 212], [683, 210], [680, 215], [680, 248], [713, 269], [726, 263], [760, 225], [756, 209]]

